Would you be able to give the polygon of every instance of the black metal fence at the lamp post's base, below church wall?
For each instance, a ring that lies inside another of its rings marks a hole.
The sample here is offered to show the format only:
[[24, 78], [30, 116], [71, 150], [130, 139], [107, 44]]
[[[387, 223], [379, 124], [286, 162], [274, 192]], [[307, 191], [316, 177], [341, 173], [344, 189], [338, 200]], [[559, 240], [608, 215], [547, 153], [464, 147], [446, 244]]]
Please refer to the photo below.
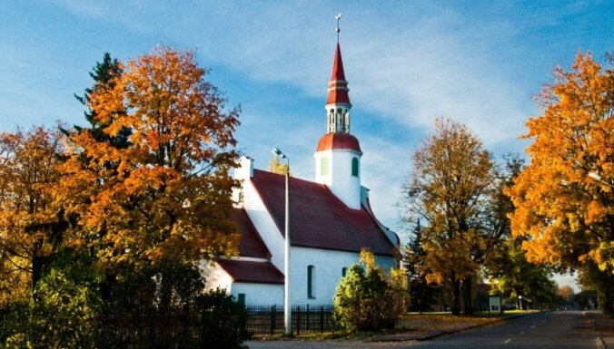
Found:
[[[283, 306], [247, 305], [246, 330], [250, 334], [282, 334]], [[322, 333], [335, 331], [332, 321], [332, 305], [293, 305], [292, 333]]]

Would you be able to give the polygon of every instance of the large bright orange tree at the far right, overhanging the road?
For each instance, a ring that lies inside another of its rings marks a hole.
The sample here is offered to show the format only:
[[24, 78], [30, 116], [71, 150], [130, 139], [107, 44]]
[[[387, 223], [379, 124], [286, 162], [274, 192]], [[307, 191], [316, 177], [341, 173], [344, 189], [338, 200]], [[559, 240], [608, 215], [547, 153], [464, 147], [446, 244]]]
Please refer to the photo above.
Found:
[[[611, 62], [610, 62], [611, 63]], [[512, 232], [531, 261], [578, 268], [614, 310], [614, 70], [579, 53], [537, 96], [530, 165], [507, 191]]]

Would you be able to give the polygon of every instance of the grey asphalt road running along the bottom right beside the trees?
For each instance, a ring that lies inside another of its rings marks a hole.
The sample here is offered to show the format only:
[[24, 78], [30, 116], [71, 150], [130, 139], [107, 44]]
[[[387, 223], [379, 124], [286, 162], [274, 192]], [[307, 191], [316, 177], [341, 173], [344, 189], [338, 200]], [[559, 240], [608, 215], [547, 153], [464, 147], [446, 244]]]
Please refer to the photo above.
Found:
[[451, 334], [411, 348], [579, 349], [595, 348], [596, 335], [583, 331], [582, 312], [522, 316], [504, 325]]

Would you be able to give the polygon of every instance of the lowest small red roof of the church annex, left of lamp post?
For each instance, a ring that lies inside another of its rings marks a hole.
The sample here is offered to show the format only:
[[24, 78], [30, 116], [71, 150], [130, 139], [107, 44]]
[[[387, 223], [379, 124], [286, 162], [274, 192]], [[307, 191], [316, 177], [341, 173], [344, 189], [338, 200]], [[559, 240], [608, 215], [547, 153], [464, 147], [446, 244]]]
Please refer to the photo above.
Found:
[[271, 262], [220, 259], [217, 263], [237, 282], [283, 284], [283, 274]]

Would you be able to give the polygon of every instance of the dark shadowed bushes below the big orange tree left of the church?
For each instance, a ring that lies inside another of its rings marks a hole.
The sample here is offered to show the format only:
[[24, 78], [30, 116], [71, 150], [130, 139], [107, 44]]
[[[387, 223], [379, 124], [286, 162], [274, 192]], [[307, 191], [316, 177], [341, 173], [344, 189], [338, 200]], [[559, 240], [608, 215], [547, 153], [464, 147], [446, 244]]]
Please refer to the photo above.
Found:
[[203, 278], [189, 264], [164, 261], [115, 284], [118, 297], [101, 314], [100, 349], [242, 347], [243, 305], [221, 289], [203, 293]]

